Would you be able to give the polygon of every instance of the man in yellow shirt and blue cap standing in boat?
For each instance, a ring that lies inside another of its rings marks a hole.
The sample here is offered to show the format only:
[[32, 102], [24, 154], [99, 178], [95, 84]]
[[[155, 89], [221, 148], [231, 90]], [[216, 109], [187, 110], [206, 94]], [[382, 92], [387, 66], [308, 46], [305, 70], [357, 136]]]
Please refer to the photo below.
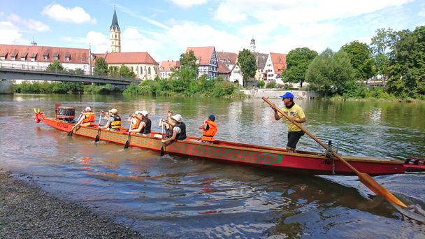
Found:
[[[302, 124], [307, 119], [305, 119], [305, 114], [303, 111], [303, 108], [301, 106], [298, 106], [296, 103], [294, 103], [294, 94], [291, 92], [286, 92], [284, 95], [279, 96], [282, 98], [282, 101], [284, 103], [284, 108], [282, 108], [283, 113], [285, 113], [289, 118], [285, 120], [288, 126], [288, 143], [287, 143], [287, 151], [288, 152], [296, 152], [296, 144], [298, 143], [298, 140], [300, 140], [301, 136], [304, 135], [304, 131], [299, 129], [295, 124], [292, 122], [296, 122], [298, 124]], [[275, 119], [279, 120], [283, 117], [276, 108], [273, 108], [275, 110]]]

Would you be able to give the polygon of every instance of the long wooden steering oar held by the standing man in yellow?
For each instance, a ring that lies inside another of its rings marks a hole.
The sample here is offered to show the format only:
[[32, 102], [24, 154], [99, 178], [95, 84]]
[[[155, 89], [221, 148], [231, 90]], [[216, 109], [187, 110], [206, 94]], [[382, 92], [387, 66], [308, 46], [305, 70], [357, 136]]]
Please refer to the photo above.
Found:
[[[268, 103], [273, 108], [273, 110], [278, 110], [278, 112], [280, 113], [280, 115], [283, 115], [288, 120], [291, 120], [289, 118], [289, 116], [287, 116], [285, 113], [283, 113], [282, 110], [280, 110], [277, 106], [275, 106], [275, 104], [272, 103], [271, 101], [269, 101], [266, 97], [263, 96], [263, 97], [261, 97], [261, 99], [263, 99], [263, 101], [266, 101], [266, 103]], [[324, 143], [322, 143], [319, 139], [317, 139], [315, 136], [313, 136], [312, 133], [310, 133], [307, 130], [305, 130], [303, 128], [303, 126], [301, 126], [300, 124], [298, 124], [296, 122], [292, 122], [292, 123], [295, 124], [299, 129], [301, 129], [302, 131], [304, 131], [304, 133], [307, 133], [308, 136], [310, 136], [310, 138], [312, 138], [313, 140], [315, 140], [317, 143], [319, 143], [319, 145], [321, 145], [322, 147], [324, 147], [326, 149], [326, 145], [324, 145]], [[402, 201], [400, 201], [398, 198], [396, 198], [396, 196], [394, 196], [393, 194], [391, 194], [387, 189], [385, 189], [384, 187], [382, 187], [372, 177], [370, 177], [370, 175], [368, 175], [367, 173], [361, 173], [361, 172], [357, 171], [356, 168], [354, 168], [351, 164], [348, 164], [347, 161], [345, 161], [345, 159], [343, 159], [343, 157], [341, 157], [339, 154], [337, 154], [333, 150], [332, 150], [332, 154], [333, 154], [334, 157], [336, 157], [341, 162], [343, 162], [343, 164], [345, 164], [345, 166], [347, 166], [354, 173], [356, 173], [356, 175], [359, 176], [360, 182], [362, 182], [366, 187], [368, 187], [370, 190], [372, 190], [375, 194], [380, 194], [385, 199], [387, 199], [387, 201], [389, 201], [391, 203], [395, 203], [396, 205], [400, 205], [403, 208], [407, 208], [408, 207]]]

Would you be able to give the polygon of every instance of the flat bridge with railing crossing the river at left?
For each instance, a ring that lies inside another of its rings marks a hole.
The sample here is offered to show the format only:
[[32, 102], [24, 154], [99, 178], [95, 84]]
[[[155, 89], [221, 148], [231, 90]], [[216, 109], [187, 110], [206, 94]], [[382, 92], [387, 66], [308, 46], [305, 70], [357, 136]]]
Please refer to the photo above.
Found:
[[[19, 64], [0, 64], [0, 94], [11, 94], [11, 80], [52, 80], [62, 82], [99, 83], [126, 86], [138, 84], [139, 80], [110, 78], [103, 75], [76, 74], [66, 71], [47, 71], [47, 68]], [[10, 85], [10, 87], [9, 87]], [[8, 89], [10, 88], [10, 89]]]

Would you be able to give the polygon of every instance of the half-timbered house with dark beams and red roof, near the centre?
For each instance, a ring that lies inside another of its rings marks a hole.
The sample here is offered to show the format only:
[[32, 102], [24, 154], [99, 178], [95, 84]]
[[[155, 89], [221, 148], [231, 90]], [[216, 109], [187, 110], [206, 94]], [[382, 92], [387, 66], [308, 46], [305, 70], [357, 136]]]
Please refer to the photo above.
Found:
[[189, 47], [186, 53], [193, 51], [196, 57], [196, 64], [199, 64], [198, 77], [208, 75], [208, 78], [217, 78], [218, 76], [218, 61], [215, 53], [215, 47]]

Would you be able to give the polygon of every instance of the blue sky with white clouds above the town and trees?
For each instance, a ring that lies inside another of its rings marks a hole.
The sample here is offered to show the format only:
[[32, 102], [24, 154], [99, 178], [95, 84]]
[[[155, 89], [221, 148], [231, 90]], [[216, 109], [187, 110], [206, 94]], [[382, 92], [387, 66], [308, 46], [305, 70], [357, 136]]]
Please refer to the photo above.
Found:
[[375, 31], [425, 26], [421, 0], [0, 0], [0, 44], [110, 51], [114, 8], [122, 52], [178, 60], [189, 46], [238, 53], [252, 38], [261, 53], [334, 51], [370, 43]]

